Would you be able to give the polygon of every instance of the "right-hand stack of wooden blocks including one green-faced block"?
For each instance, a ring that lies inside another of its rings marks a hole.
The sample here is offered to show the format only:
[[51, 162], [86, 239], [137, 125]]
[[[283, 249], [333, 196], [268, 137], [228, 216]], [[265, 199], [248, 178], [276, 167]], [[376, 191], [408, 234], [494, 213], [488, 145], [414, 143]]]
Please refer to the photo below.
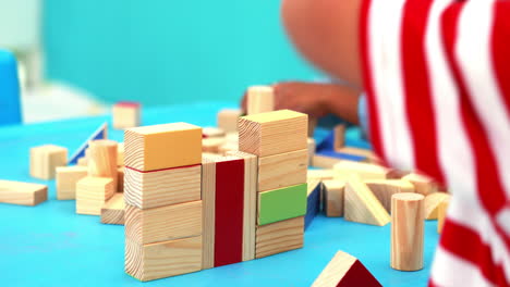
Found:
[[281, 110], [240, 118], [239, 149], [258, 157], [255, 258], [303, 246], [307, 115]]

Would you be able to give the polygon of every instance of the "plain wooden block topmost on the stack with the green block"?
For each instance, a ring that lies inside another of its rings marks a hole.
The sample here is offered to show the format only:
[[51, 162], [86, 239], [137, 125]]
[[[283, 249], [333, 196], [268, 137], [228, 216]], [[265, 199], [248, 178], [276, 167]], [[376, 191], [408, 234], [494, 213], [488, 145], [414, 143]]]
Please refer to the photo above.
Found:
[[269, 157], [306, 149], [308, 116], [290, 110], [239, 120], [239, 150]]

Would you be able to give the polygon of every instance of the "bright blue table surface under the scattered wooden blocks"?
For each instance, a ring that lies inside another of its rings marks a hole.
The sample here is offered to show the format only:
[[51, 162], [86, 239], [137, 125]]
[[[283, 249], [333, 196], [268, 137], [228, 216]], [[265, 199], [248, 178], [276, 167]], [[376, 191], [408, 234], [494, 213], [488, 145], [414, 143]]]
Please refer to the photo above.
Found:
[[[216, 125], [226, 102], [145, 109], [143, 124], [189, 122]], [[305, 246], [272, 257], [139, 283], [124, 273], [124, 227], [75, 214], [74, 200], [56, 199], [54, 180], [28, 175], [32, 147], [53, 144], [74, 152], [110, 116], [0, 127], [0, 178], [47, 184], [48, 201], [37, 207], [0, 203], [0, 286], [309, 286], [338, 250], [359, 258], [384, 286], [426, 286], [437, 246], [436, 221], [425, 223], [425, 269], [389, 266], [390, 225], [384, 227], [319, 215]], [[109, 137], [123, 139], [121, 130]], [[349, 140], [357, 140], [349, 138]]]

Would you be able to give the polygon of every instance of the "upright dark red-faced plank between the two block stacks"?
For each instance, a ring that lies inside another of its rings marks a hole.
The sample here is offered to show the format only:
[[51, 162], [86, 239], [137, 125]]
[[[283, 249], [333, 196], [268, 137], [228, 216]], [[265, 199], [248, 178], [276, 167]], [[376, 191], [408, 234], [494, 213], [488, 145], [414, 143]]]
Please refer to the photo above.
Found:
[[244, 160], [216, 159], [215, 267], [243, 260]]

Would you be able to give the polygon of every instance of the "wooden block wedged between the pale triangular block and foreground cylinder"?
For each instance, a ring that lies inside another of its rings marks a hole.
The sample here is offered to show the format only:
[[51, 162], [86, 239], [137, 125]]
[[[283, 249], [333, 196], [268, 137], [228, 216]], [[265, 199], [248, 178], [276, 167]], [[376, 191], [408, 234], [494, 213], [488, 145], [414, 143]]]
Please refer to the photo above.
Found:
[[414, 192], [414, 186], [401, 179], [365, 180], [365, 184], [379, 200], [388, 213], [391, 213], [391, 197], [400, 192]]

